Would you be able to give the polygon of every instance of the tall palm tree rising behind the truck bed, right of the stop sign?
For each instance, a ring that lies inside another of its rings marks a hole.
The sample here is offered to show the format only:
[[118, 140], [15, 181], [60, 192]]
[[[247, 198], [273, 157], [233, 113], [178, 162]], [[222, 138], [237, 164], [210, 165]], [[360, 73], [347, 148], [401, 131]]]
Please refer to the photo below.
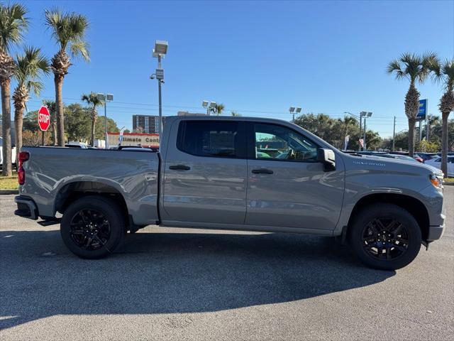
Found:
[[[62, 100], [63, 79], [71, 66], [71, 57], [82, 55], [89, 61], [89, 45], [85, 41], [85, 33], [89, 22], [85, 16], [78, 13], [63, 13], [60, 9], [45, 11], [46, 25], [52, 30], [52, 37], [57, 40], [58, 52], [52, 58], [50, 68], [54, 73], [55, 104], [57, 116], [57, 142], [65, 146], [65, 122]], [[70, 55], [67, 54], [70, 51]]]

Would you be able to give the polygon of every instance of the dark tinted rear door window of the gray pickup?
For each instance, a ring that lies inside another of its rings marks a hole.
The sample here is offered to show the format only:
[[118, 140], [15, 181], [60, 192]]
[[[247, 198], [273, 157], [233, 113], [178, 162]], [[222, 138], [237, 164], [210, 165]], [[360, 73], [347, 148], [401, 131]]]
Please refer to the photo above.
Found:
[[233, 121], [182, 121], [177, 148], [196, 156], [241, 157], [244, 143], [239, 126]]

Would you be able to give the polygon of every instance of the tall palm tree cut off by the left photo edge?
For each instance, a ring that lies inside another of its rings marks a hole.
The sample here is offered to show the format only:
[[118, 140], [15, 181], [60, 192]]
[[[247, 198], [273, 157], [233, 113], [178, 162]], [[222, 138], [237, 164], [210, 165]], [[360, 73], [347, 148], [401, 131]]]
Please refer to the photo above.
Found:
[[3, 169], [2, 173], [11, 176], [11, 77], [14, 75], [16, 65], [9, 51], [23, 38], [23, 33], [28, 28], [26, 7], [19, 4], [0, 4], [0, 87], [1, 87], [1, 113], [3, 137]]

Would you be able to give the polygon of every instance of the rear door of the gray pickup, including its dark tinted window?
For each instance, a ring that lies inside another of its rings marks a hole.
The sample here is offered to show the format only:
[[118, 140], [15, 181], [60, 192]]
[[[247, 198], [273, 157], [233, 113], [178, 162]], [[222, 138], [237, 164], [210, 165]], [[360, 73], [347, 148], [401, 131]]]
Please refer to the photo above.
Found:
[[162, 220], [244, 224], [245, 124], [184, 120], [172, 131], [164, 166]]

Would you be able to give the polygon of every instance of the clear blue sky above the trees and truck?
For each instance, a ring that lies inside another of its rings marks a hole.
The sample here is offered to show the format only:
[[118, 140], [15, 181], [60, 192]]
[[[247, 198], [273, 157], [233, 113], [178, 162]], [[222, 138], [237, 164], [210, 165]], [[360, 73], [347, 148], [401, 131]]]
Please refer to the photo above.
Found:
[[[409, 51], [454, 56], [454, 1], [22, 1], [30, 10], [26, 44], [51, 57], [56, 45], [44, 10], [59, 4], [89, 18], [91, 62], [74, 60], [65, 102], [109, 92], [108, 116], [131, 128], [133, 114], [157, 114], [156, 39], [168, 40], [163, 61], [163, 114], [203, 112], [202, 99], [243, 116], [290, 119], [289, 106], [342, 117], [373, 112], [382, 136], [406, 128], [406, 81], [387, 75], [389, 60]], [[40, 97], [53, 97], [53, 77]], [[438, 114], [441, 87], [419, 86]], [[32, 99], [28, 109], [37, 109]]]

